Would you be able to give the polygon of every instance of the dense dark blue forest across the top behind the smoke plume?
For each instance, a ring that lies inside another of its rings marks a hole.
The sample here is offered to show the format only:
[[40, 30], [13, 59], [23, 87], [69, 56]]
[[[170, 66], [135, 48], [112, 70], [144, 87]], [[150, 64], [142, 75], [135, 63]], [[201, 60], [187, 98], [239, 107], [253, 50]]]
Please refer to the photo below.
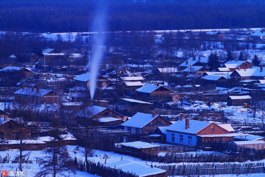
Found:
[[[99, 4], [109, 31], [265, 26], [264, 0], [1, 0], [0, 31], [87, 32]], [[105, 9], [105, 8], [104, 8]]]

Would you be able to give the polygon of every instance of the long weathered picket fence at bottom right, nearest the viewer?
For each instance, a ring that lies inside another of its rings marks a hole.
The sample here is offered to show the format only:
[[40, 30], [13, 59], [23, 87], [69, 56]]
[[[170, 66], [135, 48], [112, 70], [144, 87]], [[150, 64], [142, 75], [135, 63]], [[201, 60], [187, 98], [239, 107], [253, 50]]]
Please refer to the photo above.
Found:
[[260, 163], [204, 163], [204, 164], [184, 164], [183, 165], [155, 165], [168, 171], [168, 176], [188, 176], [188, 175], [218, 175], [218, 174], [249, 174], [265, 173], [264, 162]]

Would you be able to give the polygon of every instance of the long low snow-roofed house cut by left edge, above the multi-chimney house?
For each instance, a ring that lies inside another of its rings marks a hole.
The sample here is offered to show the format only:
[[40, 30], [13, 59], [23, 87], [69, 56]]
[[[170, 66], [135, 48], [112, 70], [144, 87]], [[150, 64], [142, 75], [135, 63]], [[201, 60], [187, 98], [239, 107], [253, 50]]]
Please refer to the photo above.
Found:
[[7, 66], [0, 70], [0, 74], [3, 75], [7, 73], [10, 76], [17, 76], [21, 79], [31, 77], [33, 75], [33, 72], [30, 68], [25, 67], [16, 67], [16, 66]]

